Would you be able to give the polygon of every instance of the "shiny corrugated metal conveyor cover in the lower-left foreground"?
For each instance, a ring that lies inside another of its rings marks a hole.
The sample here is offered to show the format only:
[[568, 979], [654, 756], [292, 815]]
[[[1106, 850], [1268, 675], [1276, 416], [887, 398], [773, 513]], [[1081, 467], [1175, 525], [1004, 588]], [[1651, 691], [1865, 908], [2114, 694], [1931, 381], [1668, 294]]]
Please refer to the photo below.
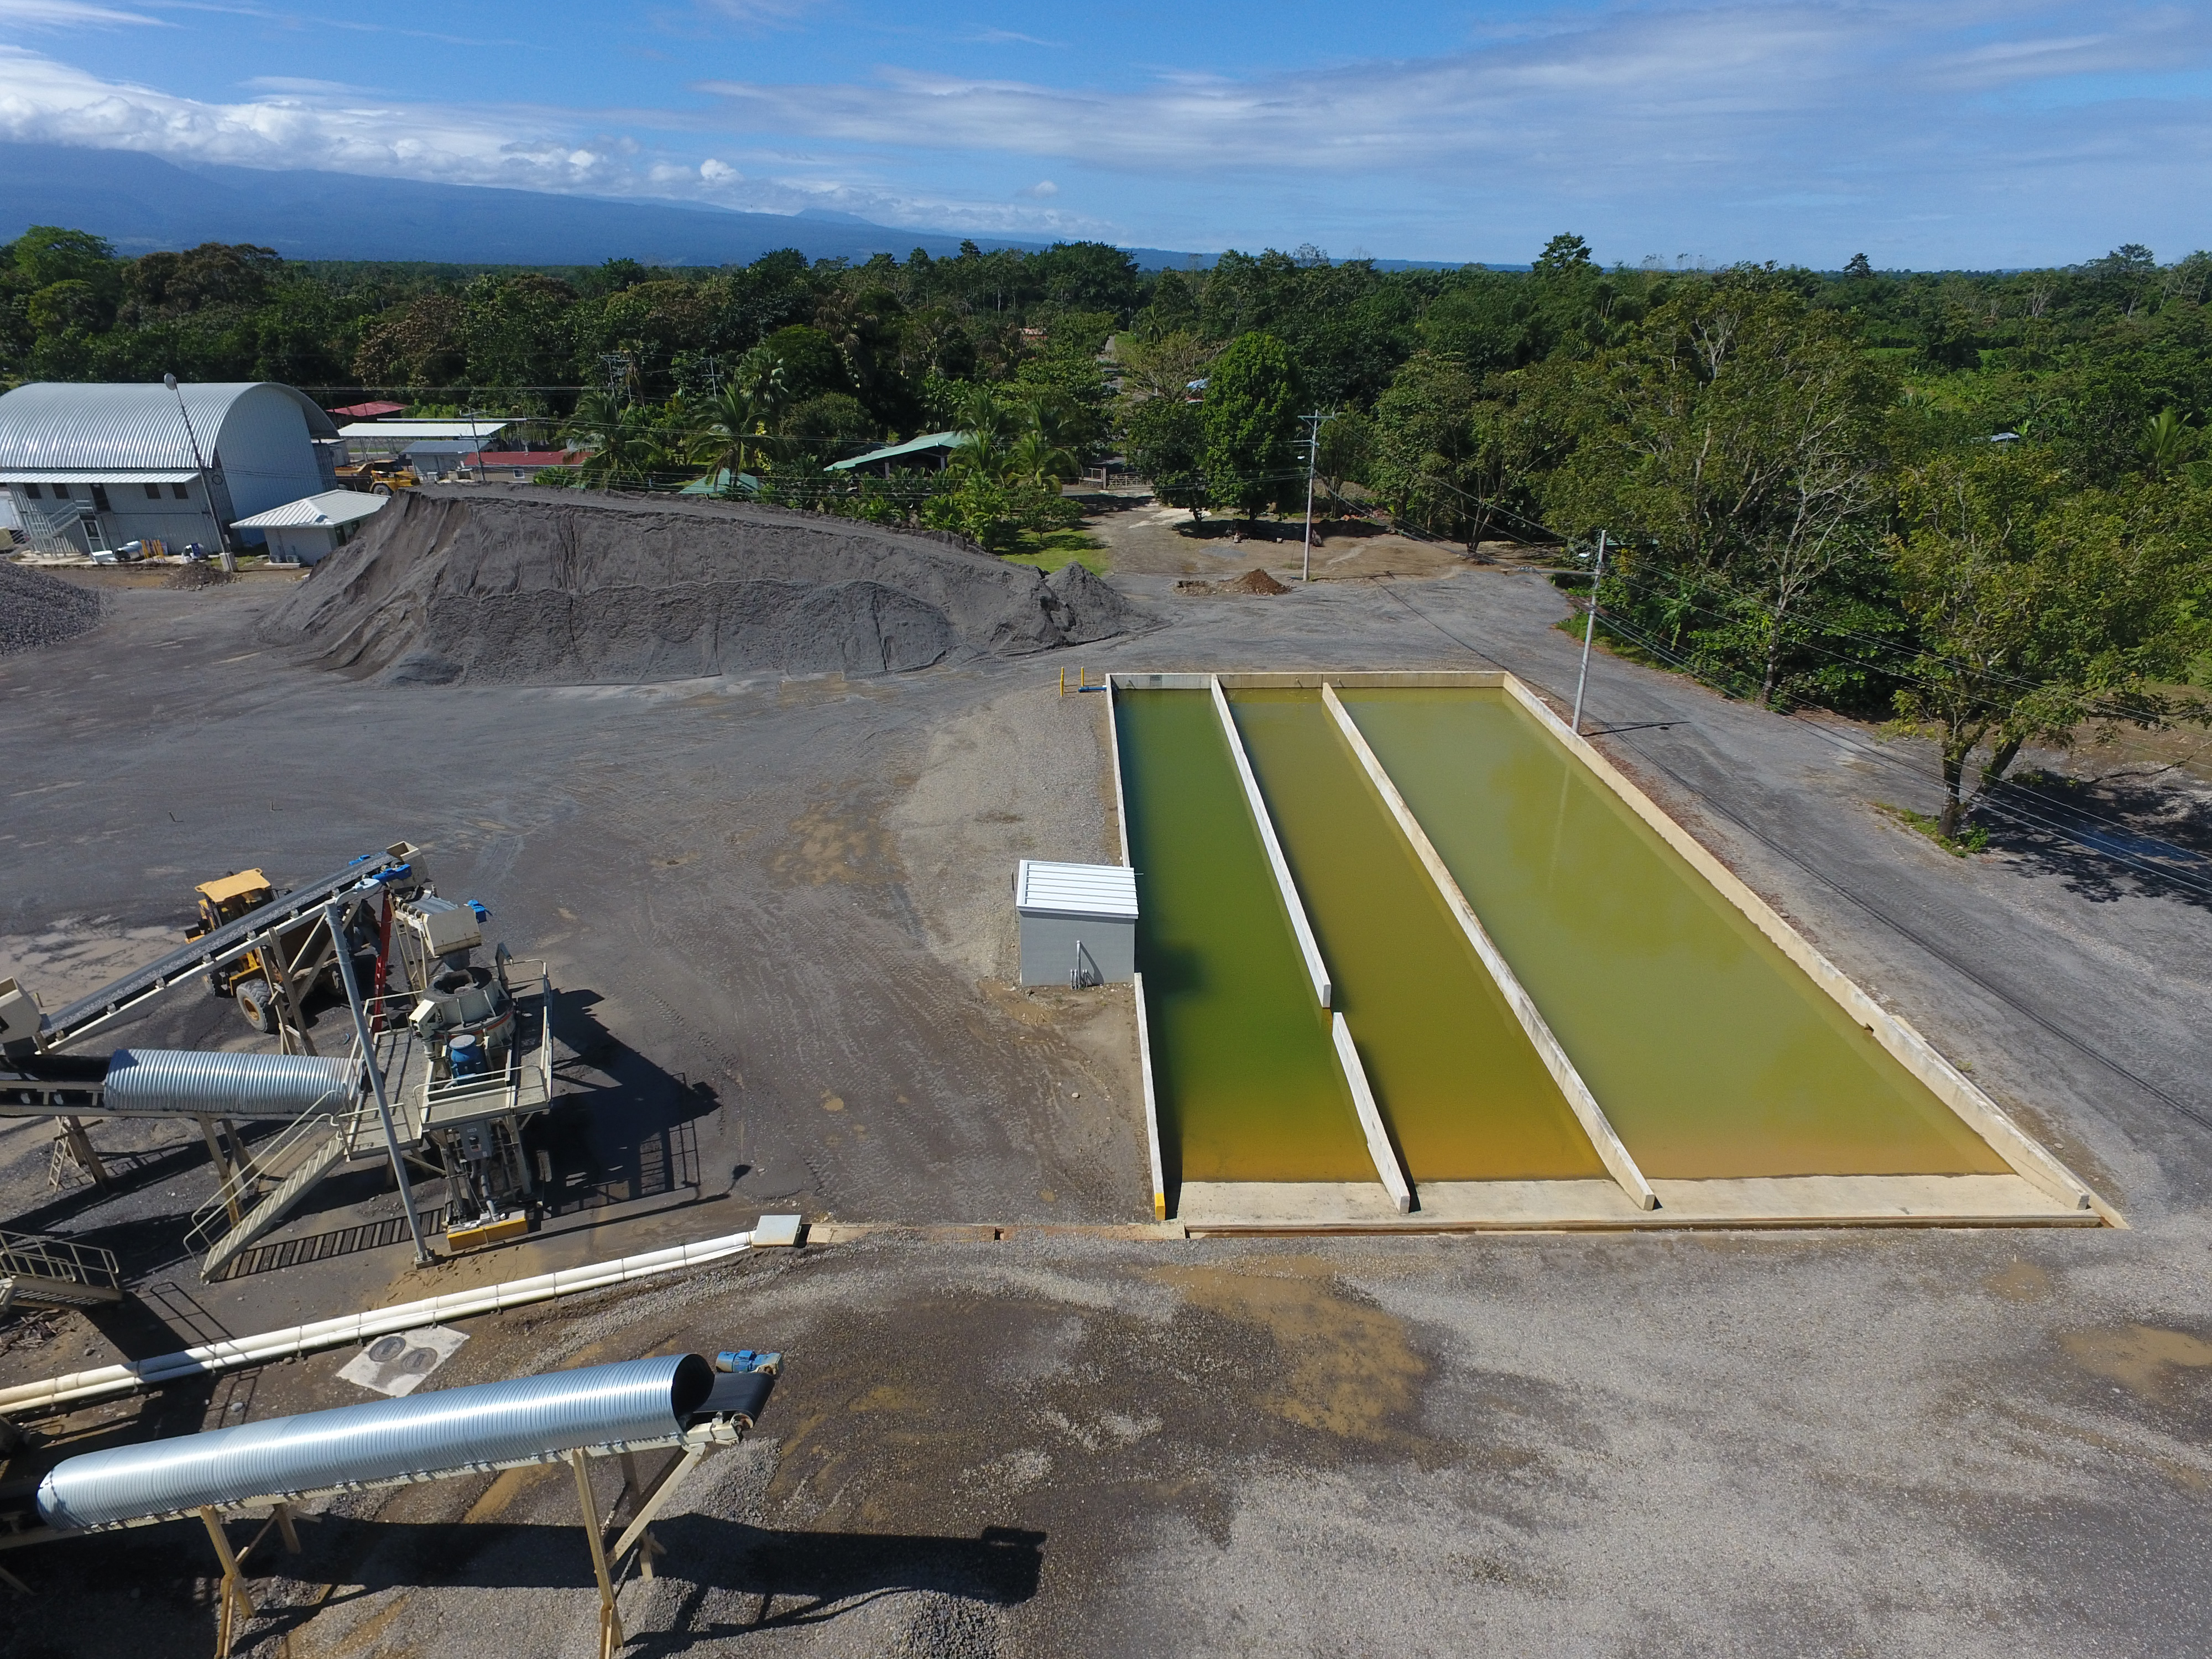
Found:
[[668, 1440], [712, 1391], [714, 1367], [703, 1358], [661, 1354], [246, 1422], [69, 1458], [38, 1484], [38, 1513], [49, 1526], [82, 1531]]

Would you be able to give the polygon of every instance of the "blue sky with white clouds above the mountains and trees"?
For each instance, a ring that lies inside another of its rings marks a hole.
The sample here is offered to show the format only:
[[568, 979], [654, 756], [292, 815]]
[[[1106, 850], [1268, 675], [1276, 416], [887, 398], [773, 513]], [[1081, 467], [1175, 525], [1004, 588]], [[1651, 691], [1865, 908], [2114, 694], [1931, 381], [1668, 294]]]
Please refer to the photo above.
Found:
[[2177, 259], [2212, 4], [0, 0], [0, 137], [1152, 248]]

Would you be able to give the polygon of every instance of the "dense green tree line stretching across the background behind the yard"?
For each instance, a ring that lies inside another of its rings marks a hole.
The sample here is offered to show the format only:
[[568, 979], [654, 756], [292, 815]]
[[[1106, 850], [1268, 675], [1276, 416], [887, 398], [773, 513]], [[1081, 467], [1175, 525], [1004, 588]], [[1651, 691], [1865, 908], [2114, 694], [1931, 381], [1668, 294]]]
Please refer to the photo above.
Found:
[[[1303, 509], [1586, 562], [1624, 648], [1776, 708], [1931, 732], [1944, 832], [2037, 741], [2188, 717], [2212, 679], [2212, 257], [2064, 270], [1400, 270], [1115, 248], [655, 270], [0, 250], [0, 383], [276, 378], [540, 416], [593, 480], [1011, 546], [1126, 456], [1194, 515]], [[1307, 453], [1307, 414], [1327, 416]], [[958, 465], [825, 473], [960, 429]]]

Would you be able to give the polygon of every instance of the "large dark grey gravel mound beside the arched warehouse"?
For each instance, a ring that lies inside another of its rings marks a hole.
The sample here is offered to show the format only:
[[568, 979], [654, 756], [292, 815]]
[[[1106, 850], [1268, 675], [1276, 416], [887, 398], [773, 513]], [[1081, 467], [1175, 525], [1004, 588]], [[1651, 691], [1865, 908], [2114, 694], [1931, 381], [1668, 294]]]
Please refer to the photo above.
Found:
[[929, 535], [776, 507], [480, 484], [396, 495], [265, 626], [356, 677], [624, 684], [889, 675], [1148, 624], [1088, 571], [1046, 582]]

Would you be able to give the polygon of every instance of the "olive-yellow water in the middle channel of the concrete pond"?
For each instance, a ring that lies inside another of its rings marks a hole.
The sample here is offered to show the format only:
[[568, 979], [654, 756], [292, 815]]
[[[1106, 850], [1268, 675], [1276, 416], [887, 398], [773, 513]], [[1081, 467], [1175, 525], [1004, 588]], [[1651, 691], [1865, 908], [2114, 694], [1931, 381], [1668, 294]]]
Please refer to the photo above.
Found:
[[1407, 1175], [1606, 1179], [1321, 692], [1241, 690], [1230, 708]]

